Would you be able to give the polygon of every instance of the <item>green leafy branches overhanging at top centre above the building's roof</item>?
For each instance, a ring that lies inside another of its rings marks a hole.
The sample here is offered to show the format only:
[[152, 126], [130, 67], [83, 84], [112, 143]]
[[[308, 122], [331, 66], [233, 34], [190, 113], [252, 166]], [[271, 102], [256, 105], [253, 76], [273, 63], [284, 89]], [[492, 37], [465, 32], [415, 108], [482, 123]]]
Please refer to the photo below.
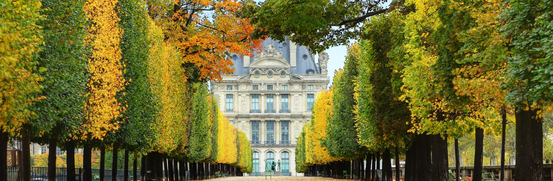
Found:
[[331, 46], [346, 45], [349, 39], [357, 39], [366, 19], [387, 10], [381, 7], [383, 2], [268, 0], [260, 6], [252, 6], [245, 14], [251, 14], [258, 37], [290, 40], [321, 52]]

